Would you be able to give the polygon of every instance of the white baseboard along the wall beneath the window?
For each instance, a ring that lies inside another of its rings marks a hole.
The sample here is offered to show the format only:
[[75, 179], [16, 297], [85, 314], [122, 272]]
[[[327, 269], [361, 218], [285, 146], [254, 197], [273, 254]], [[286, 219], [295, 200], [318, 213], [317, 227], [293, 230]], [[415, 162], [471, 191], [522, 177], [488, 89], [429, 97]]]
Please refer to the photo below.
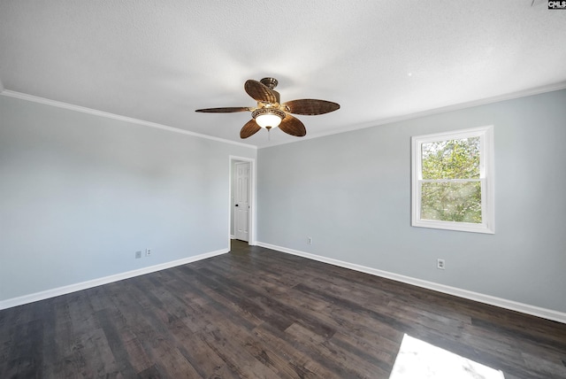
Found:
[[566, 324], [566, 313], [553, 311], [551, 309], [540, 308], [539, 306], [530, 306], [528, 304], [518, 303], [516, 301], [507, 300], [505, 298], [496, 298], [490, 295], [485, 295], [478, 292], [472, 292], [470, 290], [462, 290], [459, 288], [450, 287], [435, 282], [427, 282], [409, 276], [398, 275], [387, 271], [378, 270], [376, 268], [356, 265], [354, 263], [348, 263], [338, 259], [326, 258], [320, 255], [311, 254], [309, 252], [288, 249], [286, 247], [281, 247], [273, 244], [264, 244], [262, 242], [257, 242], [257, 245], [265, 247], [267, 249], [287, 252], [287, 254], [298, 255], [303, 258], [308, 258], [308, 259], [317, 260], [319, 262], [328, 263], [333, 266], [345, 267], [365, 274], [376, 275], [397, 282], [404, 282], [407, 284], [415, 285], [417, 287], [422, 287], [427, 290], [435, 290], [437, 292], [446, 293], [448, 295], [454, 295], [459, 298], [467, 298], [469, 300], [478, 301], [479, 303], [489, 304], [490, 306], [499, 306], [501, 308], [510, 309], [512, 311], [531, 314], [533, 316], [541, 317], [543, 319], [558, 321]]

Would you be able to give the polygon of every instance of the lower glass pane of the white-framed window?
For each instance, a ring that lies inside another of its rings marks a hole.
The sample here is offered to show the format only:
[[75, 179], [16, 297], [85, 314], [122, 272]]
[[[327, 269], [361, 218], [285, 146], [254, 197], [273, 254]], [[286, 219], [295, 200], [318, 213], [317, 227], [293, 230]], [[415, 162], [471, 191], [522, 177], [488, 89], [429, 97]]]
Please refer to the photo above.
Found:
[[480, 224], [480, 182], [424, 182], [421, 219]]

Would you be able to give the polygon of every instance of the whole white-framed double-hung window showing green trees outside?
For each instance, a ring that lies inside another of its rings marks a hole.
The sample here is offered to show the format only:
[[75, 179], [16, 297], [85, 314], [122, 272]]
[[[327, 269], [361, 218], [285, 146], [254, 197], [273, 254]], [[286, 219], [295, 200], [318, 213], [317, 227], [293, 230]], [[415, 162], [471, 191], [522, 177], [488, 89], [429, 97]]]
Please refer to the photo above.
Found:
[[493, 234], [493, 127], [412, 142], [412, 225]]

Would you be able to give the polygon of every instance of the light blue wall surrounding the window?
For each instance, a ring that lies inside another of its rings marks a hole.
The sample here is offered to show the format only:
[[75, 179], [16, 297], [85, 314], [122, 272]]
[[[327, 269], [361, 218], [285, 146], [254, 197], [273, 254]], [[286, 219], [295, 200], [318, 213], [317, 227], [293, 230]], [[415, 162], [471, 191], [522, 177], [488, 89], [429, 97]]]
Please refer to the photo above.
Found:
[[[495, 234], [411, 227], [410, 137], [486, 125]], [[565, 143], [562, 90], [261, 149], [257, 240], [566, 312]]]

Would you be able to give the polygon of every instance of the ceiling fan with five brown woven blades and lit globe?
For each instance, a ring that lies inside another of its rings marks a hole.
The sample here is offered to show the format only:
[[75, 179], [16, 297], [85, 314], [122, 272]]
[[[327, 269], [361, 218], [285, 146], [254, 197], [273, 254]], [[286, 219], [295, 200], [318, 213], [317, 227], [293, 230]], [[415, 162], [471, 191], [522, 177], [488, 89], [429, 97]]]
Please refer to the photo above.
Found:
[[197, 109], [195, 112], [205, 113], [232, 113], [251, 112], [252, 120], [249, 120], [240, 131], [241, 138], [255, 135], [261, 128], [268, 131], [272, 128], [281, 129], [287, 135], [302, 137], [307, 134], [302, 122], [293, 114], [317, 115], [333, 112], [340, 109], [340, 104], [331, 101], [317, 100], [312, 98], [291, 100], [286, 103], [280, 102], [277, 87], [278, 81], [274, 78], [264, 78], [261, 81], [249, 80], [244, 84], [244, 89], [250, 97], [257, 102], [255, 107], [238, 106], [225, 108]]

